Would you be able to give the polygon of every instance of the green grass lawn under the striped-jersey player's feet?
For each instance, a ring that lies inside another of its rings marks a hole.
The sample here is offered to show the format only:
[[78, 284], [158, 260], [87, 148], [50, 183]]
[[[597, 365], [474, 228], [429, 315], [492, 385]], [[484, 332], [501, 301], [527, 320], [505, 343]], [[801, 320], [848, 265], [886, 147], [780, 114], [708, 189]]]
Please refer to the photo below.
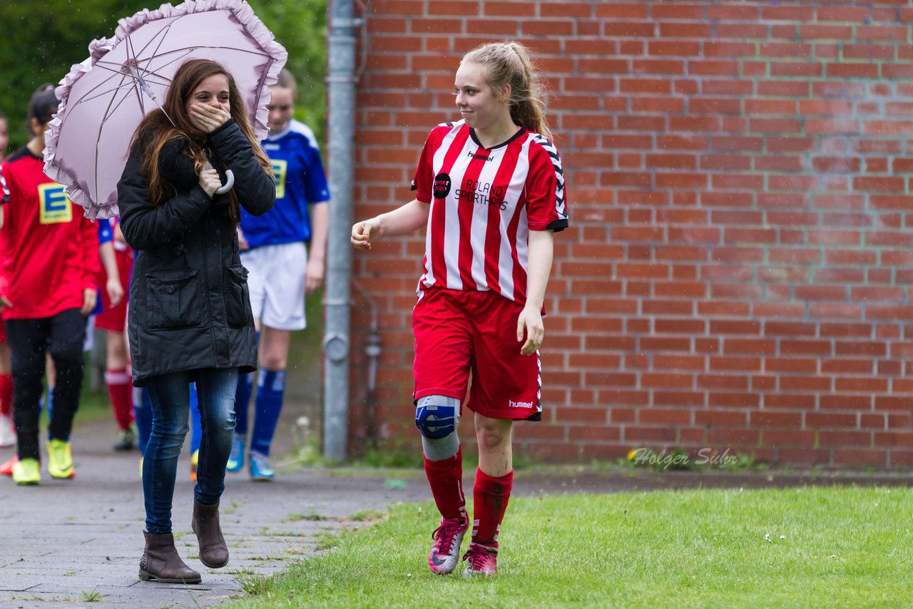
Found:
[[[913, 598], [913, 490], [786, 488], [511, 499], [498, 574], [428, 570], [431, 502], [399, 504], [228, 607], [897, 606]], [[468, 541], [464, 541], [463, 550]], [[462, 570], [463, 564], [458, 567]]]

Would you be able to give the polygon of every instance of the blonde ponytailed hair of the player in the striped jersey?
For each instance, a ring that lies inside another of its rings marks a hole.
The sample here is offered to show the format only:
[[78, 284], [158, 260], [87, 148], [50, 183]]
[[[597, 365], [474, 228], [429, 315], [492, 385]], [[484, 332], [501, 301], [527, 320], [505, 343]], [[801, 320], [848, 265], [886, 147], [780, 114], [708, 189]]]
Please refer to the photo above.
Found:
[[519, 42], [491, 42], [463, 56], [467, 63], [488, 68], [485, 80], [497, 93], [510, 85], [510, 118], [529, 131], [552, 139], [545, 124], [545, 100], [539, 75], [530, 59], [530, 51]]

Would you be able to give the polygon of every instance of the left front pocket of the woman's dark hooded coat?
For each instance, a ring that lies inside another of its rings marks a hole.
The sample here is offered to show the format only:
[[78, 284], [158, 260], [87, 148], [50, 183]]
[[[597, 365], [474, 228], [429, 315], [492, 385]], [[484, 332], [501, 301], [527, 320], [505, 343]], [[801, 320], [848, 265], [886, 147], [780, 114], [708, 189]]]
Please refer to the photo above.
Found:
[[195, 268], [146, 275], [149, 330], [198, 328], [203, 325], [203, 295], [196, 275]]

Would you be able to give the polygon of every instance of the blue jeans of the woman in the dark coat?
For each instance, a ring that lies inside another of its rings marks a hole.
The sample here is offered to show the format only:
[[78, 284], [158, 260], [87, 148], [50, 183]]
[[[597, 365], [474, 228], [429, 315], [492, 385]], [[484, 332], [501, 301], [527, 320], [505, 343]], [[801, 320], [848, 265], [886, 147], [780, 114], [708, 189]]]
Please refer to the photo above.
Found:
[[[225, 489], [226, 463], [235, 434], [237, 368], [197, 370], [194, 376], [203, 428], [194, 498], [203, 505], [213, 505]], [[151, 533], [172, 532], [174, 478], [188, 431], [191, 382], [190, 371], [155, 376], [147, 382], [152, 434], [143, 454], [142, 494], [146, 530]]]

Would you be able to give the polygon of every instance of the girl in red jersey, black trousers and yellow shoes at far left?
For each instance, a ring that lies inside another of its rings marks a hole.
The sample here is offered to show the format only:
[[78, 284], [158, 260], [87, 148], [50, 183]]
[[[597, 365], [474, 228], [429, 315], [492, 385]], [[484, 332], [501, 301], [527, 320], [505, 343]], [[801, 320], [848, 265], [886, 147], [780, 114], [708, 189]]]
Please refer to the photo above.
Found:
[[12, 356], [16, 421], [16, 484], [41, 480], [39, 399], [46, 354], [57, 369], [47, 442], [47, 473], [73, 478], [69, 435], [82, 386], [86, 318], [95, 309], [100, 271], [98, 229], [44, 173], [47, 123], [57, 112], [54, 88], [29, 103], [31, 139], [3, 165], [4, 226], [0, 229], [0, 307]]

